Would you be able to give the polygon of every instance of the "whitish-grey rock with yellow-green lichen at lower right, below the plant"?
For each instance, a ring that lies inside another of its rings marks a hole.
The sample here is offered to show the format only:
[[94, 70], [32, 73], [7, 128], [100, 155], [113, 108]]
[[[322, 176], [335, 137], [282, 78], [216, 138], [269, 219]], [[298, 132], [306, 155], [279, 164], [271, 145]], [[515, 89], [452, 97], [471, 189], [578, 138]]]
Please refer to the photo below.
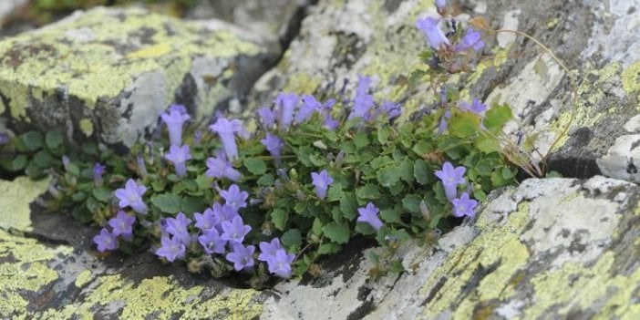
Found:
[[447, 233], [438, 249], [402, 248], [408, 273], [372, 281], [371, 263], [352, 258], [311, 283], [279, 284], [263, 317], [640, 317], [635, 184], [532, 179], [496, 193], [476, 222]]

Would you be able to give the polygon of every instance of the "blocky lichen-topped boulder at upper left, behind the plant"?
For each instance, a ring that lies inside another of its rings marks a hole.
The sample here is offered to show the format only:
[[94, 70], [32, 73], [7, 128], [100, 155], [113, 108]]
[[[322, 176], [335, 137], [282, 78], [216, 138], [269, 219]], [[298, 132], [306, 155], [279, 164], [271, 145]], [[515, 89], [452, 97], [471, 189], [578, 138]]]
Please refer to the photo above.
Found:
[[143, 9], [98, 7], [0, 42], [5, 127], [67, 129], [131, 145], [171, 102], [198, 117], [243, 95], [277, 56], [232, 28], [205, 27]]

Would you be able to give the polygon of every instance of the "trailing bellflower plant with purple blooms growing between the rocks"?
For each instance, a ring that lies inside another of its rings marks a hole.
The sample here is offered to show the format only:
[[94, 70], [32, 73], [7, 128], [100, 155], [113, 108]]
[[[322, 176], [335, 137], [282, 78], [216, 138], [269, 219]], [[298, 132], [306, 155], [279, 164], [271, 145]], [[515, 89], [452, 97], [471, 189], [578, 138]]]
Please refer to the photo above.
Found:
[[0, 165], [51, 175], [47, 206], [101, 226], [101, 253], [150, 250], [191, 272], [252, 274], [260, 287], [272, 275], [317, 274], [319, 258], [360, 235], [386, 248], [373, 254], [372, 274], [401, 272], [400, 244], [432, 244], [456, 219], [473, 218], [478, 201], [514, 182], [514, 163], [540, 173], [502, 132], [509, 106], [459, 101], [447, 88], [485, 45], [455, 21], [443, 31], [447, 7], [436, 4], [441, 17], [417, 22], [430, 48], [410, 78], [427, 79], [438, 103], [408, 121], [396, 123], [402, 107], [376, 101], [372, 78], [360, 76], [350, 99], [278, 94], [257, 110], [253, 132], [223, 115], [203, 129], [171, 105], [162, 132], [129, 155], [68, 145], [53, 129], [3, 137], [11, 156]]

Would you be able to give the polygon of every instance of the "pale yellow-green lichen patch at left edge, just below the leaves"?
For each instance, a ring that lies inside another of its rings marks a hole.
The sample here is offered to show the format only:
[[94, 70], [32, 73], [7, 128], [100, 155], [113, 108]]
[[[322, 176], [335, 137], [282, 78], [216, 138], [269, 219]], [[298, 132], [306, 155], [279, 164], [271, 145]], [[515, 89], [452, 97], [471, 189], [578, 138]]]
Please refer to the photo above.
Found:
[[49, 179], [32, 181], [18, 177], [14, 181], [0, 180], [0, 228], [31, 230], [29, 204], [46, 191]]

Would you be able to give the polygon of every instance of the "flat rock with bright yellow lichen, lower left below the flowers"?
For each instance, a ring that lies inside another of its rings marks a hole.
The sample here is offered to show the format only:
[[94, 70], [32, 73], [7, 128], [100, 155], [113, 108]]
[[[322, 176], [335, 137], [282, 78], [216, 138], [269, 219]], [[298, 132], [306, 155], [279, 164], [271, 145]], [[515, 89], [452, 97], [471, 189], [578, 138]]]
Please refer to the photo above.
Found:
[[[71, 216], [30, 210], [48, 181], [0, 181], [0, 318], [246, 319], [266, 296], [195, 277], [151, 253], [88, 250], [93, 228]], [[21, 192], [16, 196], [15, 192]]]

